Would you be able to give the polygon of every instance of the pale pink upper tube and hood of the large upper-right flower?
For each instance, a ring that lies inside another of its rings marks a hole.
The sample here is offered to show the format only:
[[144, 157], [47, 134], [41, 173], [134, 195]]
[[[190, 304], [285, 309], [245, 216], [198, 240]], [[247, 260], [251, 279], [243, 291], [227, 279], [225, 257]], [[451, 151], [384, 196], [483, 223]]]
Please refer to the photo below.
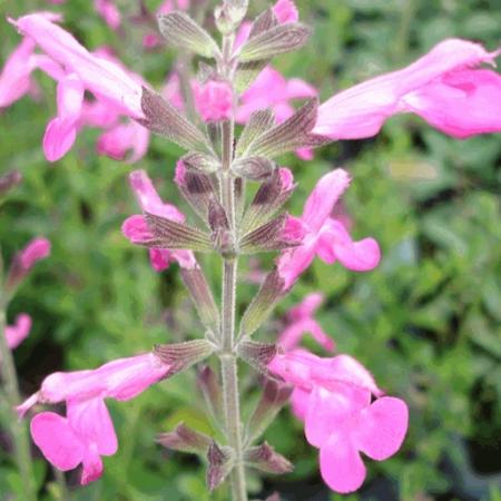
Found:
[[[454, 97], [452, 94], [444, 96], [443, 91], [438, 92], [436, 89], [426, 90], [426, 87], [432, 85], [433, 88], [433, 82], [440, 81], [440, 78], [448, 73], [462, 71], [481, 62], [492, 62], [497, 55], [489, 53], [482, 46], [466, 40], [444, 40], [409, 67], [373, 78], [333, 96], [318, 108], [313, 132], [333, 139], [375, 136], [389, 117], [413, 110], [413, 107], [420, 110], [420, 115], [425, 119], [428, 115], [432, 125], [440, 125], [439, 128], [449, 132], [449, 127], [442, 127], [442, 120], [436, 117], [436, 112], [442, 105], [450, 109]], [[471, 84], [474, 85], [474, 80]], [[413, 96], [407, 102], [405, 96], [411, 92], [418, 92], [418, 96]], [[499, 96], [499, 90], [495, 95]], [[431, 98], [436, 98], [438, 101], [430, 102]], [[458, 107], [454, 115], [459, 116], [461, 108], [462, 106]], [[461, 121], [468, 124], [468, 114], [461, 117]], [[475, 121], [477, 118], [473, 119], [473, 122]], [[488, 121], [492, 126], [492, 117]]]

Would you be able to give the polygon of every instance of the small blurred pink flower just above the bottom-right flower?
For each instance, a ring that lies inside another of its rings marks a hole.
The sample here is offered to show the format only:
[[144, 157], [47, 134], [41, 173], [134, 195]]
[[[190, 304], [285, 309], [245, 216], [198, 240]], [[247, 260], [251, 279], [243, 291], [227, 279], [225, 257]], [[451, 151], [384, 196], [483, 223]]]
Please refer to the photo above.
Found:
[[304, 334], [310, 333], [325, 350], [334, 350], [334, 341], [324, 332], [313, 317], [324, 296], [320, 293], [308, 294], [301, 304], [294, 306], [287, 314], [287, 325], [278, 337], [278, 344], [291, 351], [299, 344]]

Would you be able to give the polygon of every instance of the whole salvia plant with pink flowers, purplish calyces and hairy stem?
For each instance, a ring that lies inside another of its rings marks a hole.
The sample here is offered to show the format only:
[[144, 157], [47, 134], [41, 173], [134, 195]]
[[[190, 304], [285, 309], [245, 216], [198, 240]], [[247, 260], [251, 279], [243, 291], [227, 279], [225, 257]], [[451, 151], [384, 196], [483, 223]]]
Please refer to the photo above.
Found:
[[[482, 62], [493, 63], [499, 51], [488, 52], [465, 40], [444, 40], [411, 66], [320, 105], [312, 86], [286, 80], [271, 67], [275, 57], [301, 49], [311, 35], [292, 0], [278, 0], [254, 21], [246, 20], [247, 0], [224, 0], [214, 10], [220, 42], [188, 14], [189, 2], [167, 3], [158, 16], [159, 30], [169, 46], [199, 59], [196, 79], [176, 75], [158, 94], [111, 53], [89, 52], [60, 27], [59, 16], [30, 13], [10, 19], [23, 39], [0, 76], [0, 106], [29, 92], [31, 72], [39, 69], [57, 81], [57, 116], [43, 138], [48, 160], [61, 158], [78, 131], [89, 125], [105, 130], [98, 151], [112, 157], [131, 150], [129, 160], [138, 160], [147, 150], [150, 132], [186, 150], [174, 181], [198, 224], [188, 224], [184, 214], [160, 198], [147, 173], [136, 170], [130, 174], [130, 186], [141, 214], [130, 216], [122, 233], [132, 244], [149, 249], [155, 269], [179, 265], [204, 328], [196, 340], [157, 345], [98, 369], [51, 374], [18, 405], [9, 348], [27, 334], [30, 322], [22, 316], [16, 326], [6, 328], [4, 312], [16, 284], [48, 253], [48, 243], [37, 240], [14, 259], [3, 282], [1, 366], [11, 403], [20, 418], [40, 406], [66, 403], [66, 415], [36, 412], [31, 436], [56, 469], [68, 471], [81, 464], [81, 483], [86, 484], [102, 474], [101, 458], [118, 449], [106, 399], [129, 401], [153, 384], [168, 384], [164, 380], [203, 363], [197, 381], [215, 434], [179, 423], [161, 433], [158, 442], [199, 454], [207, 464], [209, 490], [228, 481], [230, 498], [244, 501], [248, 499], [248, 469], [274, 474], [293, 469], [273, 443], [262, 439], [291, 400], [294, 414], [304, 422], [307, 442], [320, 450], [323, 479], [336, 492], [352, 492], [365, 478], [362, 453], [382, 461], [401, 448], [407, 431], [405, 402], [387, 396], [352, 356], [318, 356], [299, 347], [302, 336], [311, 333], [327, 354], [335, 348], [314, 320], [320, 293], [289, 312], [278, 338], [258, 335], [277, 303], [316, 257], [366, 272], [377, 266], [380, 248], [373, 238], [353, 240], [346, 220], [333, 216], [351, 183], [346, 170], [337, 168], [320, 178], [303, 214], [292, 216], [284, 205], [296, 184], [293, 173], [276, 159], [289, 151], [307, 159], [314, 148], [328, 143], [374, 136], [386, 118], [400, 112], [414, 112], [459, 138], [499, 131], [501, 77], [478, 68]], [[98, 4], [110, 27], [117, 28], [120, 19], [112, 2]], [[191, 9], [195, 13], [197, 6]], [[146, 46], [156, 43], [155, 35], [145, 39]], [[294, 99], [304, 102], [294, 108]], [[10, 186], [14, 180], [1, 183]], [[198, 257], [204, 253], [220, 257], [220, 293], [213, 292], [205, 277]], [[238, 316], [237, 291], [245, 284], [240, 284], [238, 264], [259, 253], [275, 253], [275, 264], [258, 274], [258, 292]], [[218, 373], [210, 369], [214, 364], [207, 364], [209, 357], [218, 360]], [[243, 364], [257, 371], [256, 381], [262, 382], [261, 397], [245, 421], [240, 413], [246, 397], [239, 381]], [[17, 450], [20, 464], [26, 465], [29, 453], [21, 435]], [[32, 487], [27, 482], [26, 488]], [[27, 499], [33, 499], [31, 494]]]

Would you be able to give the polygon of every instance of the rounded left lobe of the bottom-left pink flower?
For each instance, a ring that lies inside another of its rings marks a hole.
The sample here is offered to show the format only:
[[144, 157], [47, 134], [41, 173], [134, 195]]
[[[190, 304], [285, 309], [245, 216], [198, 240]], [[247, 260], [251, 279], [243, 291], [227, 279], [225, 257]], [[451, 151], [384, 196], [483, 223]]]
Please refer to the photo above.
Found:
[[41, 412], [31, 420], [31, 436], [46, 459], [61, 471], [80, 464], [85, 444], [68, 420], [53, 412]]

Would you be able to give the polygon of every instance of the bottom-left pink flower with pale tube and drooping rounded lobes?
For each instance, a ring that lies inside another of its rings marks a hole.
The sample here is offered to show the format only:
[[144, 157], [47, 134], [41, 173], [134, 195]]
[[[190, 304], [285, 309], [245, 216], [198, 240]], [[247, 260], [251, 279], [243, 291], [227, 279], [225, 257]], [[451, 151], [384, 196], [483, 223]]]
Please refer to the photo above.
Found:
[[68, 471], [84, 465], [81, 483], [102, 473], [101, 455], [112, 455], [118, 443], [105, 399], [134, 399], [169, 371], [154, 353], [120, 358], [96, 370], [58, 372], [42, 382], [18, 412], [23, 416], [36, 403], [66, 402], [67, 418], [42, 412], [31, 421], [31, 435], [46, 459]]

